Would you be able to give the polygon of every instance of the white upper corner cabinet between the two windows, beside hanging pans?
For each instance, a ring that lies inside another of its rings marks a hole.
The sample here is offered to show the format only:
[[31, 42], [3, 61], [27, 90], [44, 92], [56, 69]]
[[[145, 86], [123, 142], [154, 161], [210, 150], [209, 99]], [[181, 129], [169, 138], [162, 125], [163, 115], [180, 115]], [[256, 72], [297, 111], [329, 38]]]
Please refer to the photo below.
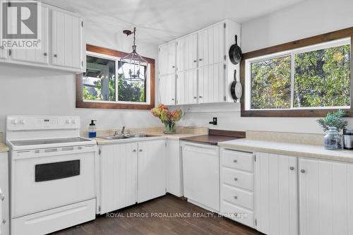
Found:
[[[239, 64], [231, 63], [228, 50], [235, 43], [235, 35], [238, 35], [238, 44], [241, 45], [240, 33], [238, 23], [223, 20], [160, 45], [160, 80], [166, 74], [177, 77], [177, 83], [168, 84], [172, 88], [160, 85], [160, 96], [164, 97], [166, 90], [176, 90], [177, 99], [172, 104], [234, 102], [229, 87], [234, 80], [234, 70], [238, 71], [239, 80]], [[165, 104], [172, 105], [170, 102]]]

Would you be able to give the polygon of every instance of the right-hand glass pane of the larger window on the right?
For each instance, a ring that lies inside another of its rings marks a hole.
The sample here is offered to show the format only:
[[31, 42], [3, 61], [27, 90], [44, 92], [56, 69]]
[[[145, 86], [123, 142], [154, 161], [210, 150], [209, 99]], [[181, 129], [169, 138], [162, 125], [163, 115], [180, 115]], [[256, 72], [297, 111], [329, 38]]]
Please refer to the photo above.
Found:
[[349, 106], [350, 46], [294, 55], [294, 107]]

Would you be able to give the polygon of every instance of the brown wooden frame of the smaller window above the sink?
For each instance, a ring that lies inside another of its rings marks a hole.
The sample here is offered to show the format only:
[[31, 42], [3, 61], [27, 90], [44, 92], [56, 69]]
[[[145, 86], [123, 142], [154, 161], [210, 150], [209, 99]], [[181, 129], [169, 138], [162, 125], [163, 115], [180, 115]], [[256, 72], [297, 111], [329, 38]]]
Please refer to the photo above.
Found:
[[[104, 47], [86, 45], [86, 51], [105, 54], [107, 56], [124, 57], [128, 53], [114, 51]], [[155, 59], [143, 57], [150, 65], [150, 104], [124, 104], [114, 102], [87, 102], [83, 100], [83, 73], [76, 75], [76, 108], [83, 109], [152, 109], [155, 107]]]

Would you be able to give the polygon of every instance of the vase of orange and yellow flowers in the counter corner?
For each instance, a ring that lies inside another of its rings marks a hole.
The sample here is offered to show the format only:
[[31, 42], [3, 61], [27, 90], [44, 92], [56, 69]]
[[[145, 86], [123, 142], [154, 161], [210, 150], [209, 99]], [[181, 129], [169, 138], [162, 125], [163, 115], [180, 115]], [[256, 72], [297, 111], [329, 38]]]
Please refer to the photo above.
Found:
[[158, 104], [157, 107], [151, 109], [153, 116], [157, 117], [164, 124], [164, 134], [177, 133], [176, 122], [181, 119], [182, 112], [180, 109], [170, 111], [164, 104]]

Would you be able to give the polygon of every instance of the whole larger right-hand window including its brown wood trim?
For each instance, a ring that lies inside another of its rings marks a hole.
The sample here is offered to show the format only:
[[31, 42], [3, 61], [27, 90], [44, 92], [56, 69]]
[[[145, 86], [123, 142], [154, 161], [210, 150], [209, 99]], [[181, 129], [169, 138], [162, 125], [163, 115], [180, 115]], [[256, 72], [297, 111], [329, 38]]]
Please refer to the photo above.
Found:
[[352, 114], [353, 29], [244, 54], [241, 116]]

